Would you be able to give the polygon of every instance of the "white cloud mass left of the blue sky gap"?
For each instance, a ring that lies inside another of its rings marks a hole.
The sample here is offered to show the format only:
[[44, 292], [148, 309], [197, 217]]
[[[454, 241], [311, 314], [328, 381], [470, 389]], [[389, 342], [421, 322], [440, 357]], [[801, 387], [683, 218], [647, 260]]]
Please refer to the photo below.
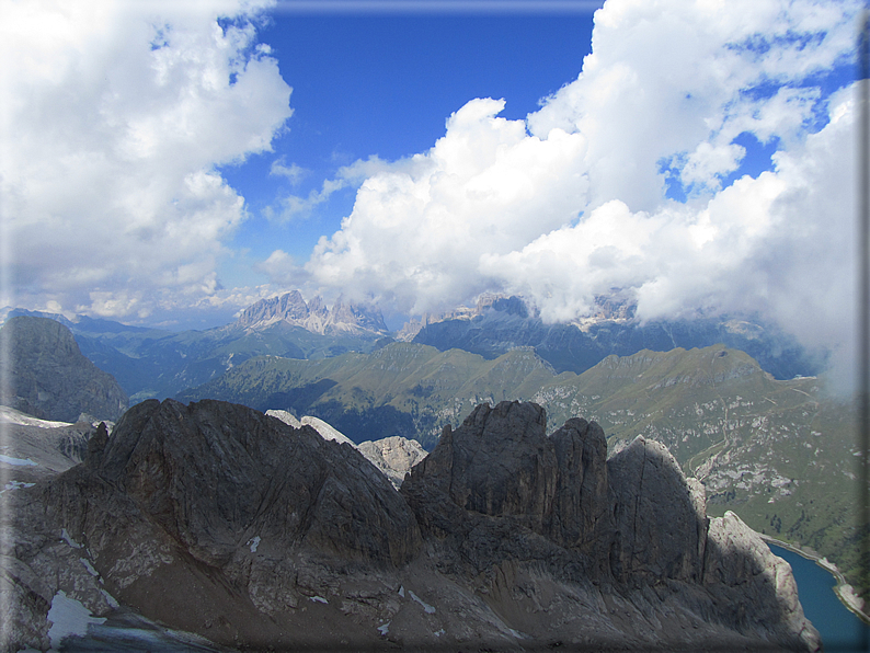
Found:
[[216, 167], [270, 150], [291, 114], [260, 4], [3, 2], [4, 303], [144, 318], [219, 301], [247, 214]]

